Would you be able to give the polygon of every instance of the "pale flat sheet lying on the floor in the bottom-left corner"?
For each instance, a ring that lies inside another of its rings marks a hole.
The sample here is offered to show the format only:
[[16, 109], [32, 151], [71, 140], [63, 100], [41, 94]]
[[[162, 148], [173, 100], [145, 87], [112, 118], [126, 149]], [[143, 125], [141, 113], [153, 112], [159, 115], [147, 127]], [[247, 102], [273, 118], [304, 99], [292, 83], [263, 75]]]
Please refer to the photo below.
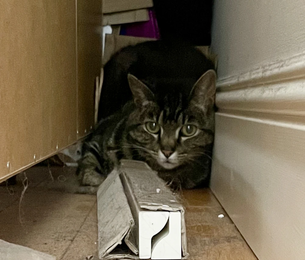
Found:
[[0, 239], [0, 259], [56, 260], [56, 257]]

